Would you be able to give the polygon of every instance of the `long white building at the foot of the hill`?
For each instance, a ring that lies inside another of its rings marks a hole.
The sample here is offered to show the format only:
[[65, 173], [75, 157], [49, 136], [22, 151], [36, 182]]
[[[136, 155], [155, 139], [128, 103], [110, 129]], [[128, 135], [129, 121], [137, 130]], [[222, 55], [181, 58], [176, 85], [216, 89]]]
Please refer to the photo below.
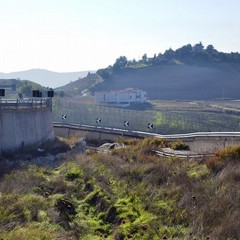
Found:
[[144, 103], [147, 101], [147, 94], [140, 89], [128, 88], [95, 92], [95, 100], [99, 103]]

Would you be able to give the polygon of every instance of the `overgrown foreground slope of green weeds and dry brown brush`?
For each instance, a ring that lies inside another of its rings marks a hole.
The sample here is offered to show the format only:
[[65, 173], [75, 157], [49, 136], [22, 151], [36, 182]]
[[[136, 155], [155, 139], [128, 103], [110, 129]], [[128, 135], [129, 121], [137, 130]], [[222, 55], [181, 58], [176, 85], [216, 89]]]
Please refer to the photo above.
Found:
[[61, 159], [57, 167], [25, 163], [6, 174], [0, 238], [240, 239], [239, 146], [196, 162], [151, 151], [179, 142], [121, 143], [109, 152], [51, 157]]

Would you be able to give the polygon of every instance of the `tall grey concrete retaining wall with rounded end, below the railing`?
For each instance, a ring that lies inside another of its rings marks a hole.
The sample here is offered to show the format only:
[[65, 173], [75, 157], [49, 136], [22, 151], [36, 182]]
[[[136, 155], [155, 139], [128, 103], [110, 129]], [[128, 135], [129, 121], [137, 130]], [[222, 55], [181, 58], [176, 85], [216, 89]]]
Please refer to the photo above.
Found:
[[53, 138], [49, 108], [0, 109], [0, 153]]

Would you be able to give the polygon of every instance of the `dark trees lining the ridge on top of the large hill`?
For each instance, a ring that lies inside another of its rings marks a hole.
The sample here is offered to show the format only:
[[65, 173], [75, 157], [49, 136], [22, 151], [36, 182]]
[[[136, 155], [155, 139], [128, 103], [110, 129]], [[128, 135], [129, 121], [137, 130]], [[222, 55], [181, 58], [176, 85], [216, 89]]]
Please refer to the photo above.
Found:
[[127, 57], [120, 56], [116, 59], [113, 65], [99, 69], [97, 74], [104, 79], [108, 79], [113, 73], [126, 68], [138, 68], [158, 64], [176, 64], [179, 62], [197, 65], [240, 63], [240, 54], [238, 52], [219, 52], [213, 45], [204, 47], [202, 42], [199, 42], [193, 46], [191, 44], [184, 45], [175, 51], [172, 48], [169, 48], [163, 54], [154, 54], [153, 57], [148, 57], [145, 53], [139, 61], [136, 61], [136, 59], [128, 60]]

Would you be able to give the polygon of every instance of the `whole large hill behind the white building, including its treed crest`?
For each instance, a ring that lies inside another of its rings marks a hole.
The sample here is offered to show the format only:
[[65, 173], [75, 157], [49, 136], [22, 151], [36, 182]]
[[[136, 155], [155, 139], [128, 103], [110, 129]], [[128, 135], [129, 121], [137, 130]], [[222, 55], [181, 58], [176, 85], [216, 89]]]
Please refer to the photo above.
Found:
[[140, 88], [150, 99], [213, 100], [239, 98], [240, 54], [218, 52], [212, 45], [187, 44], [139, 61], [120, 56], [97, 71], [105, 81], [94, 90]]

